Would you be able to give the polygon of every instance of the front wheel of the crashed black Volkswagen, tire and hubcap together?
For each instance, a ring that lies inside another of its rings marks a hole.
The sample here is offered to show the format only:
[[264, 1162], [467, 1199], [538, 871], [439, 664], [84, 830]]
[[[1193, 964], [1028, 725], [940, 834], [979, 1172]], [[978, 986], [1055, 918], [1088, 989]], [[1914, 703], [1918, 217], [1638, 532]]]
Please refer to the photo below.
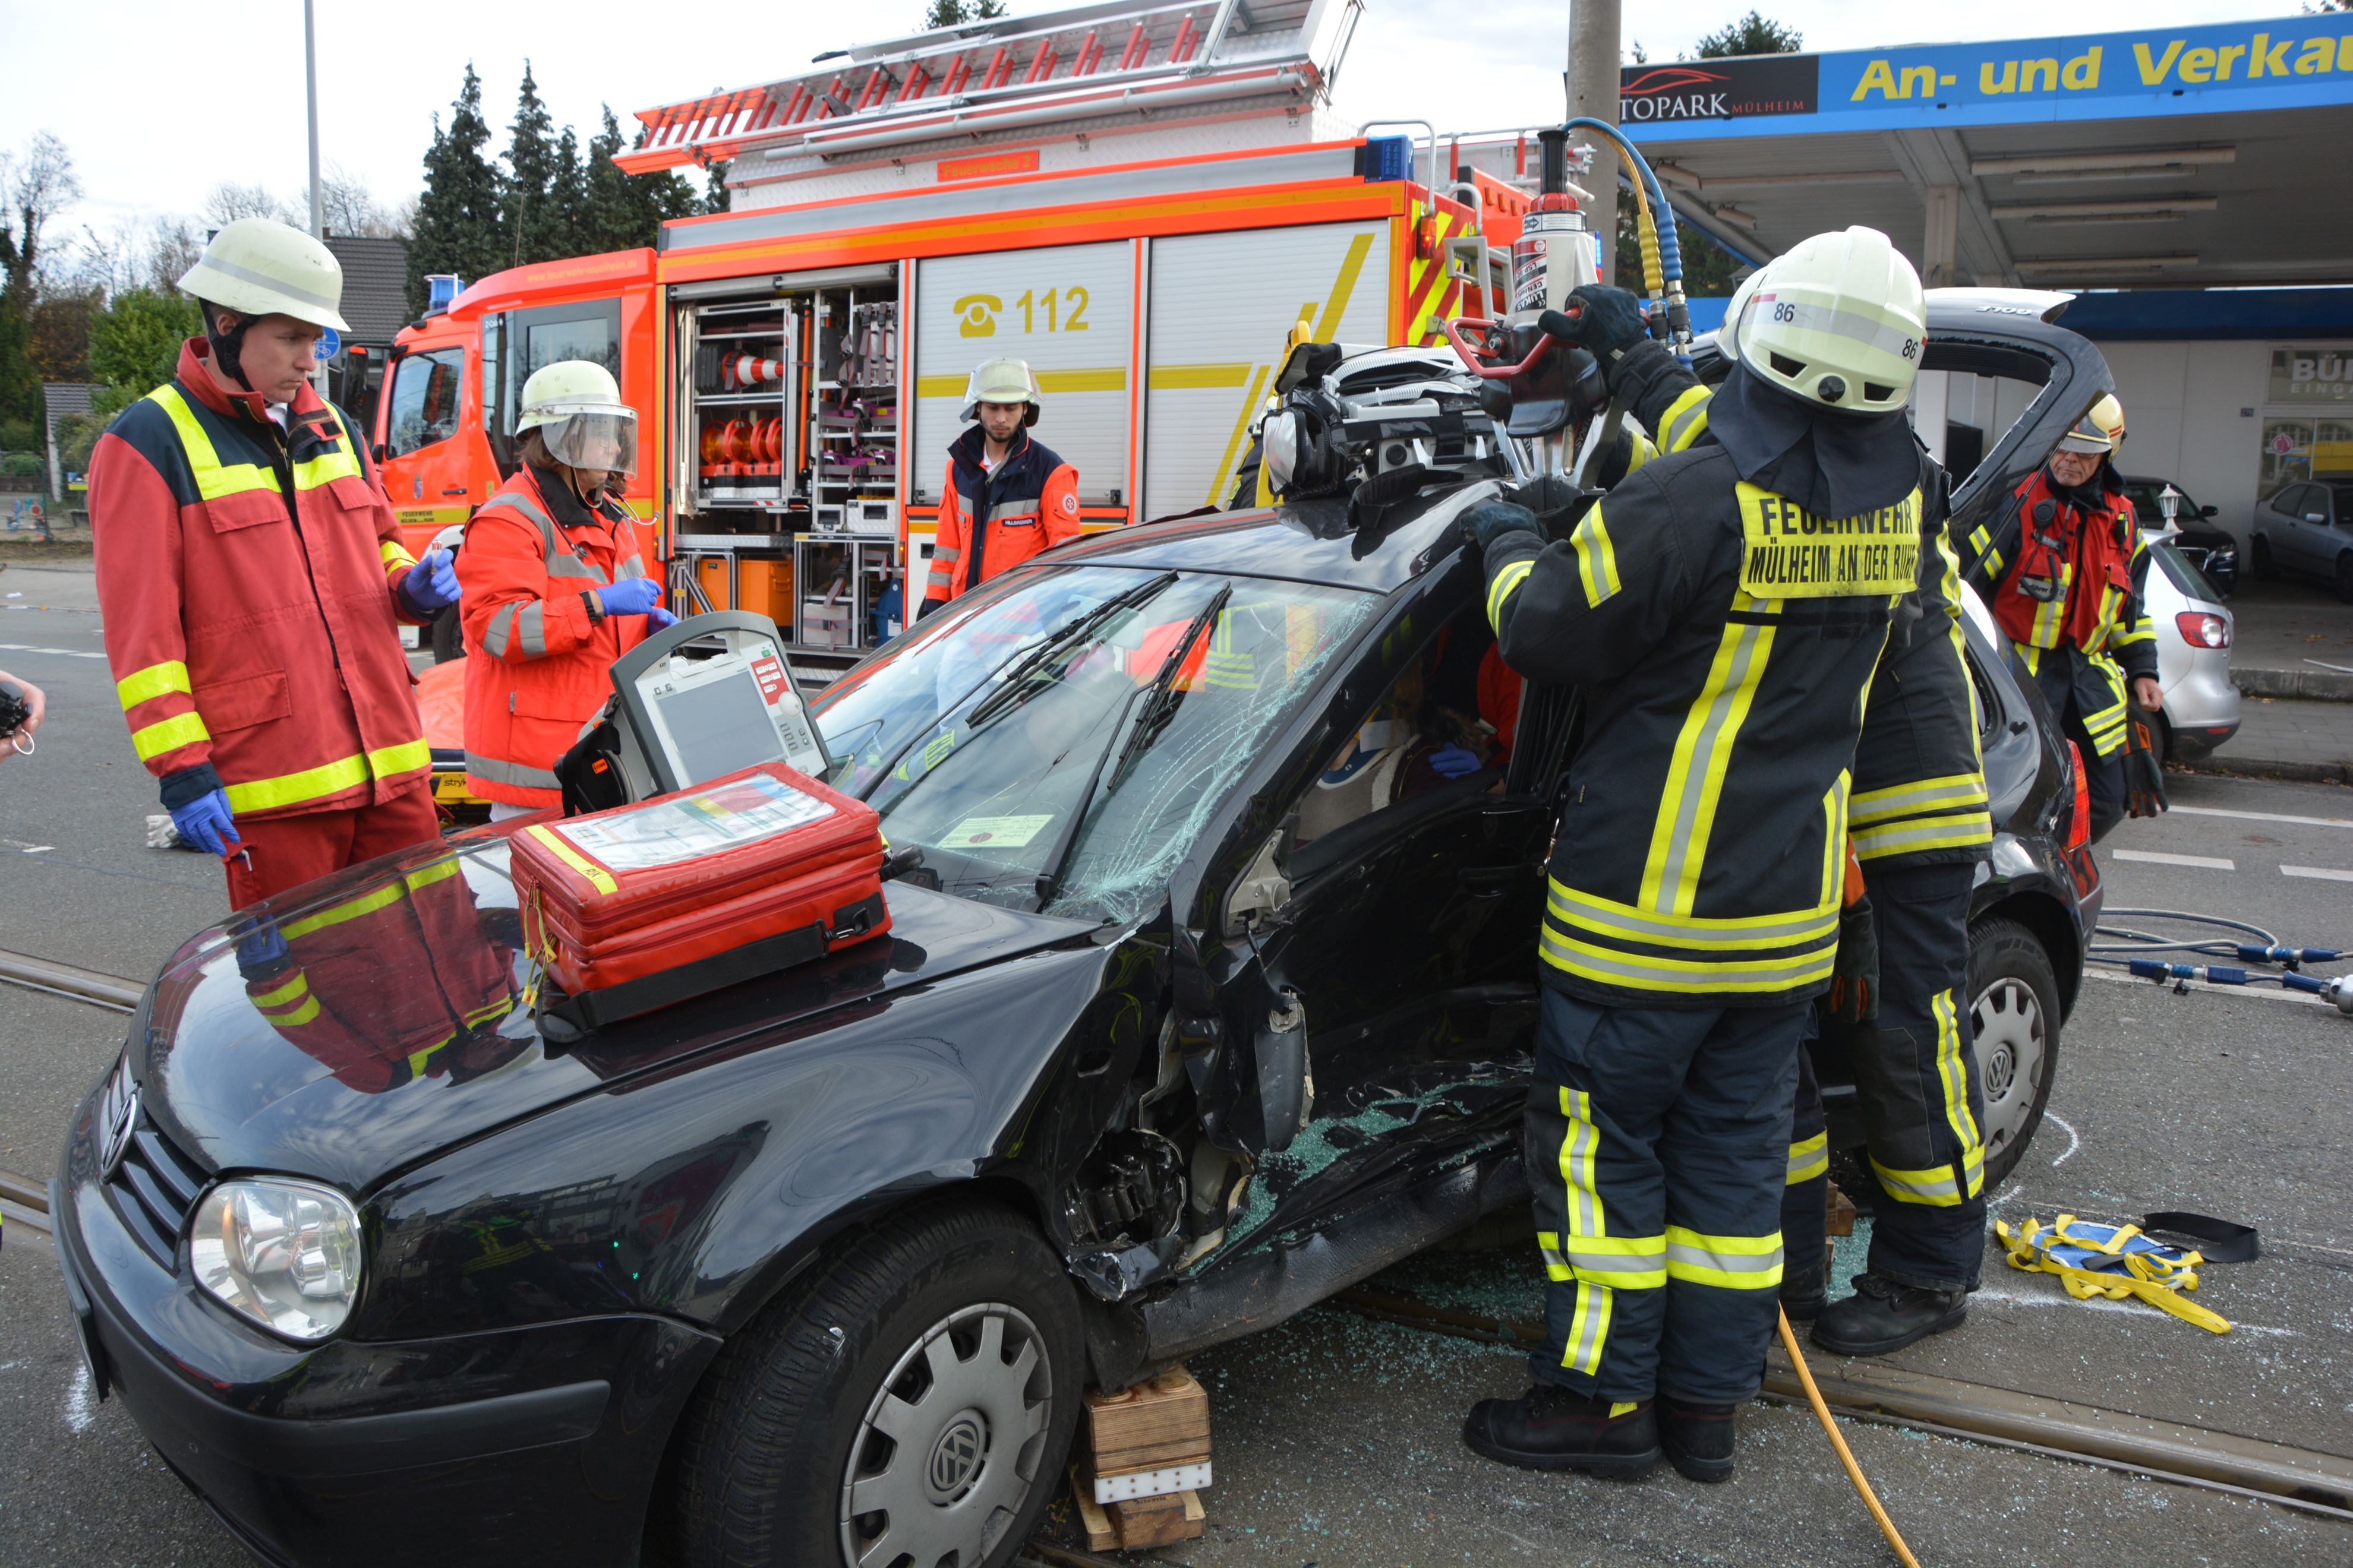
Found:
[[1059, 1493], [1082, 1345], [1064, 1260], [1019, 1215], [953, 1204], [856, 1232], [704, 1378], [682, 1559], [1009, 1563]]

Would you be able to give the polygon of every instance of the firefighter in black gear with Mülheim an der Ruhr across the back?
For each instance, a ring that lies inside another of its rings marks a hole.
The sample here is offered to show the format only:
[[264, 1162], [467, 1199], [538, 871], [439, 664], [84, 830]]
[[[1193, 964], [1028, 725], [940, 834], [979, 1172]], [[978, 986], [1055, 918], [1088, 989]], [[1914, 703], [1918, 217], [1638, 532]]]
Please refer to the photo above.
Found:
[[[1732, 1474], [1779, 1309], [1864, 691], [1920, 569], [1901, 409], [1922, 320], [1885, 235], [1817, 235], [1758, 280], [1704, 440], [1645, 461], [1565, 541], [1513, 503], [1466, 517], [1504, 661], [1584, 686], [1588, 715], [1527, 1107], [1551, 1335], [1529, 1394], [1471, 1410], [1489, 1458], [1638, 1474], [1664, 1448], [1685, 1476]], [[1617, 346], [1602, 360], [1647, 428], [1697, 423], [1694, 388], [1638, 386]]]

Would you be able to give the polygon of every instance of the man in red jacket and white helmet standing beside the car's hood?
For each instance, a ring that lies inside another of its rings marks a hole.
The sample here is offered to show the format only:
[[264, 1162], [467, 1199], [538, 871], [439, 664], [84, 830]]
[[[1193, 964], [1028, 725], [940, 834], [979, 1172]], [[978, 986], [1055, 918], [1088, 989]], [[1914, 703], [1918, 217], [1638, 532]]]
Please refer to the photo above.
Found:
[[311, 390], [344, 268], [240, 219], [179, 280], [205, 336], [89, 461], [106, 658], [181, 839], [242, 907], [440, 832], [395, 618], [456, 599], [400, 545], [351, 421]]

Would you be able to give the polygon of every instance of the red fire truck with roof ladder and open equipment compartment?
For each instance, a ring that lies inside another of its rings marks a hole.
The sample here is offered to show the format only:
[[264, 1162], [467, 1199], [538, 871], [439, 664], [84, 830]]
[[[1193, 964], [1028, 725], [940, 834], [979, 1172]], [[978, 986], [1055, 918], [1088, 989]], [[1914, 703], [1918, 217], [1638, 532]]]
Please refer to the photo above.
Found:
[[640, 409], [628, 501], [673, 597], [772, 616], [809, 670], [922, 581], [979, 360], [1035, 367], [1089, 529], [1226, 503], [1294, 327], [1421, 343], [1485, 313], [1537, 183], [1532, 141], [1482, 139], [1478, 172], [1447, 148], [1440, 179], [1435, 136], [1334, 120], [1355, 12], [1120, 0], [642, 110], [621, 167], [725, 162], [732, 209], [402, 334], [376, 440], [412, 548], [496, 489], [522, 381], [562, 357]]

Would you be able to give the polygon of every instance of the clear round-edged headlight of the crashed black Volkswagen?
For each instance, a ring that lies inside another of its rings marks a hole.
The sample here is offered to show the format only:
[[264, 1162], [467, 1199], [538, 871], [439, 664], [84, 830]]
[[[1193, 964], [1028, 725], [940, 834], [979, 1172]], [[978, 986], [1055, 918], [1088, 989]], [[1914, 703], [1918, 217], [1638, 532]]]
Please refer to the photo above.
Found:
[[247, 1178], [207, 1192], [188, 1222], [195, 1284], [292, 1340], [325, 1340], [360, 1295], [360, 1215], [313, 1182]]

